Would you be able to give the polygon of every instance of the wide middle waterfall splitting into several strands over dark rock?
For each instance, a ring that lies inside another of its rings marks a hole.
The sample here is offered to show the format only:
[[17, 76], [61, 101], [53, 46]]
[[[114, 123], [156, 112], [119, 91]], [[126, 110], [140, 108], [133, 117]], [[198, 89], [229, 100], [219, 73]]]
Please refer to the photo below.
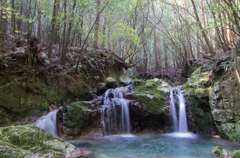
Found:
[[129, 101], [123, 98], [120, 89], [108, 89], [103, 95], [104, 105], [99, 110], [104, 134], [106, 134], [105, 122], [109, 133], [118, 133], [118, 125], [122, 133], [130, 133]]

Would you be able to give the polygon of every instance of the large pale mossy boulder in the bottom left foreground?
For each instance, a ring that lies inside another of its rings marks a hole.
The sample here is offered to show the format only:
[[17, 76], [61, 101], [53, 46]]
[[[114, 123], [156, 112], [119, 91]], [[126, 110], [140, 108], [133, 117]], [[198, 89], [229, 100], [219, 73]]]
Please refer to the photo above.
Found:
[[86, 157], [94, 157], [91, 151], [86, 154], [79, 150], [31, 124], [0, 128], [0, 157], [73, 158], [83, 156], [83, 153]]

